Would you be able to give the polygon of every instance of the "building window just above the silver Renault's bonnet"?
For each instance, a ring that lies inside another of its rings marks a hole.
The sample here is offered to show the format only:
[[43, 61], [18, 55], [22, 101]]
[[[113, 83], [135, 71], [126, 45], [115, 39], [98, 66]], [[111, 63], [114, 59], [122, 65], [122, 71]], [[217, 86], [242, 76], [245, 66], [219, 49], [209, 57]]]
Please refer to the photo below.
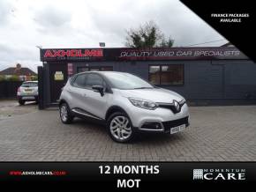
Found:
[[153, 85], [184, 85], [184, 65], [150, 65], [149, 82]]

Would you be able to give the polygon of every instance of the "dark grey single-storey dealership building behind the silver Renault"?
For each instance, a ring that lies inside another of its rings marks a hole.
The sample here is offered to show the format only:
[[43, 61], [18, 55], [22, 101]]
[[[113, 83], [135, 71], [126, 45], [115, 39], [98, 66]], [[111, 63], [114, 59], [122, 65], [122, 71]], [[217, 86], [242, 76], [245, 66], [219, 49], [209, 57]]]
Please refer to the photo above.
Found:
[[67, 79], [89, 70], [135, 74], [191, 105], [256, 103], [256, 64], [234, 47], [41, 48], [40, 55], [40, 108], [56, 105]]

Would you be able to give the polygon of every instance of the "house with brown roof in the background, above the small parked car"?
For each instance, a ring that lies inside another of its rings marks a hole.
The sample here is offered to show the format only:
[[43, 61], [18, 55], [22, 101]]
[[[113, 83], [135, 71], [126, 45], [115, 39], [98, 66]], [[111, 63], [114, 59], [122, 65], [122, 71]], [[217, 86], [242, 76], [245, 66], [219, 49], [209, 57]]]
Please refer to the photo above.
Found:
[[17, 77], [20, 81], [29, 81], [33, 80], [34, 77], [37, 77], [37, 74], [33, 70], [21, 67], [21, 64], [17, 63], [16, 67], [9, 67], [5, 70], [1, 70], [0, 76], [4, 77], [4, 79]]

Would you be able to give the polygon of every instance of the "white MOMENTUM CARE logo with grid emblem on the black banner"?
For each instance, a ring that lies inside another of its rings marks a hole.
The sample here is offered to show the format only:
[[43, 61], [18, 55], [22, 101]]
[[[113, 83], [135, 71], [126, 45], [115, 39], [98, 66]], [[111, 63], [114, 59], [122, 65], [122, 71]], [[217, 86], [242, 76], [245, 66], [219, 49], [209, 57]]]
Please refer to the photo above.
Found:
[[245, 180], [245, 169], [193, 169], [193, 180]]

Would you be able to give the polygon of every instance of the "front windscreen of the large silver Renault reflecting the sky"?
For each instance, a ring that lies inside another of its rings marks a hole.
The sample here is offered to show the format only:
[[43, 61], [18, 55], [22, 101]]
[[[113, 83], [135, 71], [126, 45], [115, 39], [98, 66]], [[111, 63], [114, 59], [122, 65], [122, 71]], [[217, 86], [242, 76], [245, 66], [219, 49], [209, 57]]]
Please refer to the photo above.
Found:
[[148, 84], [147, 81], [138, 78], [129, 73], [116, 73], [109, 72], [105, 73], [110, 83], [117, 89], [152, 89], [152, 85]]

